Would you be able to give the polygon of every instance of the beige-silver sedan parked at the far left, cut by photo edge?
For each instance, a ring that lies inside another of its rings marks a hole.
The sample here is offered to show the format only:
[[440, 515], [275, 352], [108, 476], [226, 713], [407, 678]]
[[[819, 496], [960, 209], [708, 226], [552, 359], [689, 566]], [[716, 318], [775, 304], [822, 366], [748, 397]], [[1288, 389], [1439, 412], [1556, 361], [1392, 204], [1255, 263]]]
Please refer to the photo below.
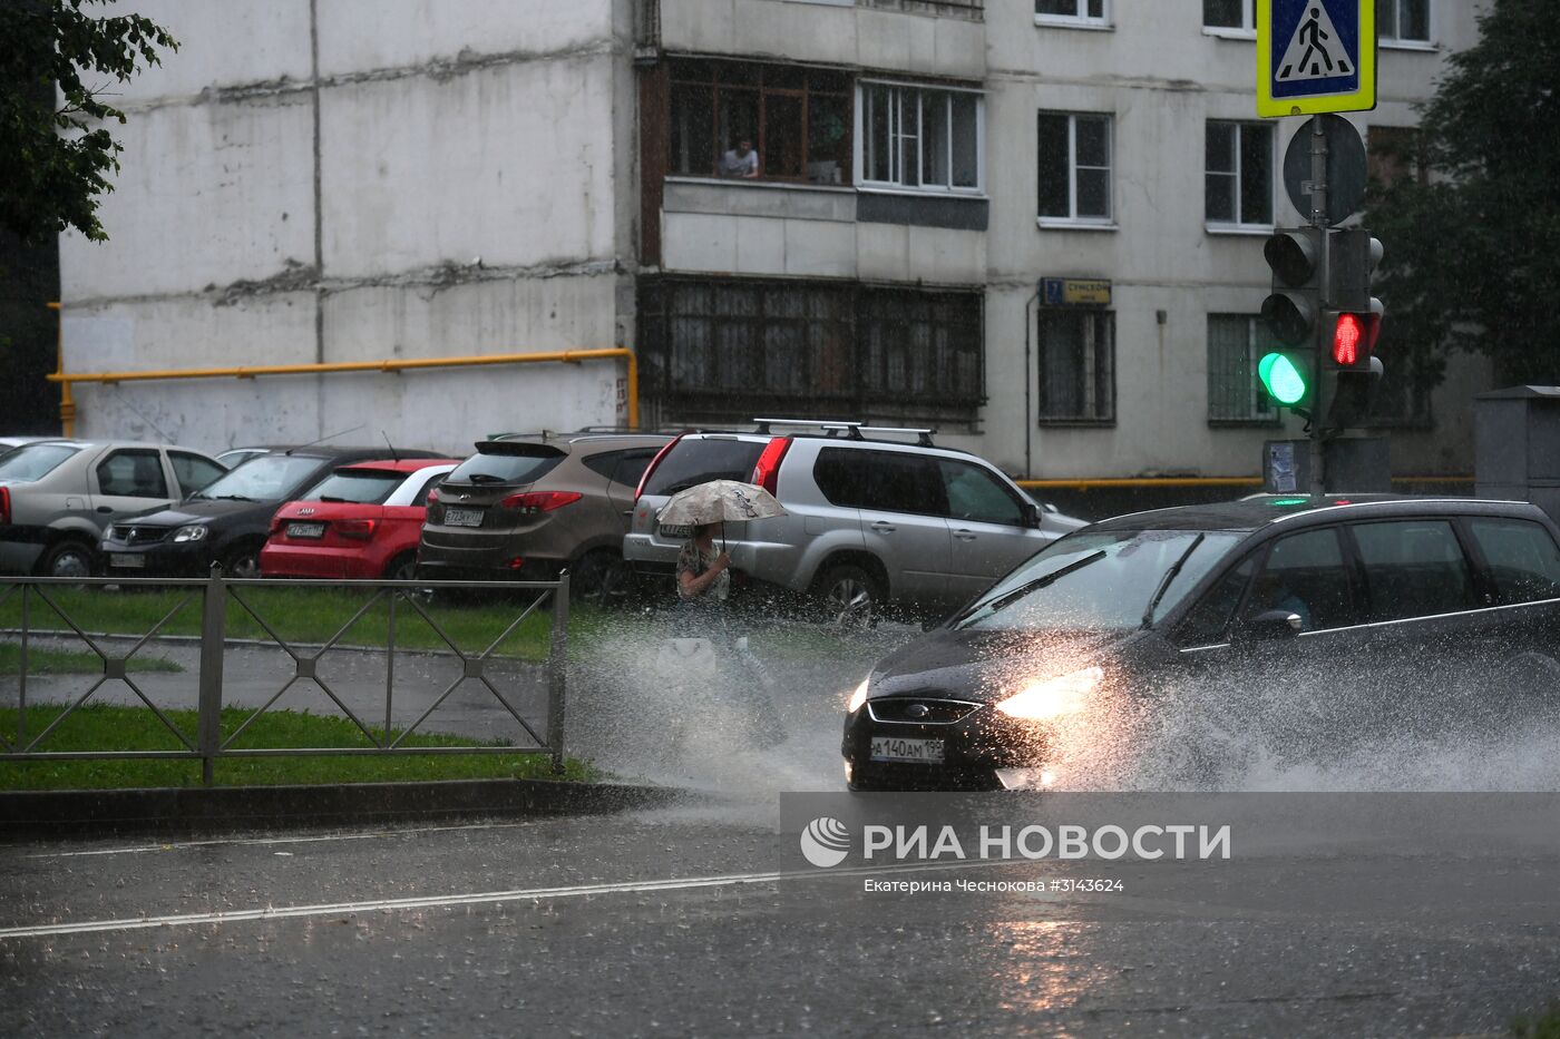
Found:
[[114, 521], [164, 509], [226, 470], [156, 443], [39, 440], [0, 457], [0, 573], [86, 577]]

